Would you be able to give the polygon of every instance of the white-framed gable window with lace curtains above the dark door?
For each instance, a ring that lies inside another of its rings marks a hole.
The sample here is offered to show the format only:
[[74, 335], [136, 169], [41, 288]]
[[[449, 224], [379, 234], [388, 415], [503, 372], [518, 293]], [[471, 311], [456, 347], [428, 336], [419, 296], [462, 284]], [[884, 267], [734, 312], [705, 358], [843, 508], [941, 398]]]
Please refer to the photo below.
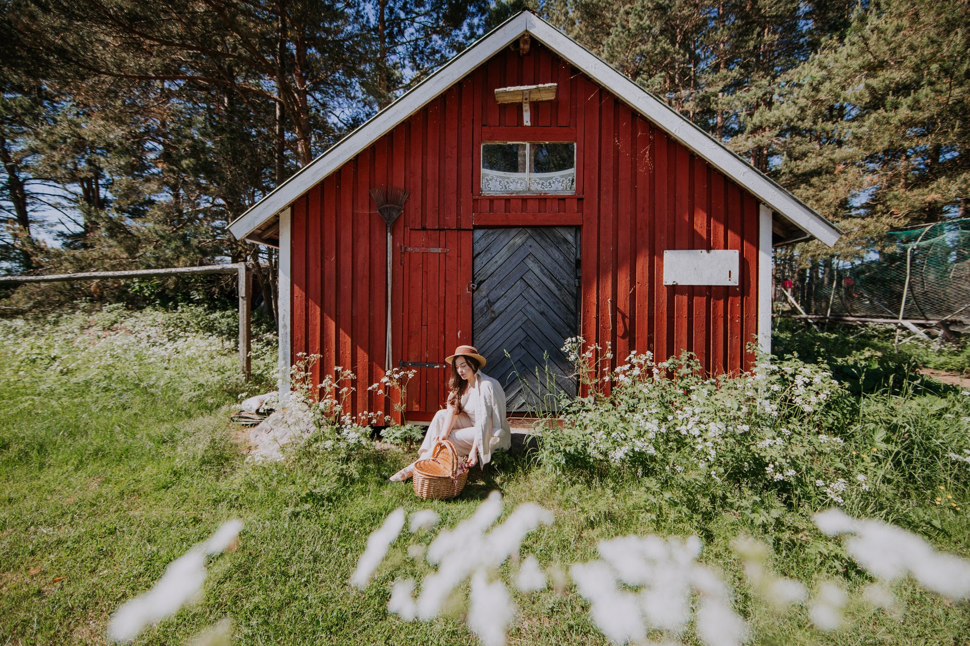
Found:
[[575, 192], [575, 143], [482, 144], [482, 194]]

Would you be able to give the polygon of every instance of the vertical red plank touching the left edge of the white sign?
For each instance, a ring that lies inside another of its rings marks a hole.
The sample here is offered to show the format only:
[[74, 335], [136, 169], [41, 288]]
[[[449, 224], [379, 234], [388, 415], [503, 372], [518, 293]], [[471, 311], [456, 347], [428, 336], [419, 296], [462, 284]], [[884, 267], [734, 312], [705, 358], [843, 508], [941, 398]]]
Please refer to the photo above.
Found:
[[667, 248], [666, 230], [667, 222], [670, 220], [667, 210], [667, 177], [670, 174], [669, 163], [667, 161], [668, 144], [666, 135], [657, 128], [650, 129], [653, 143], [653, 194], [654, 200], [651, 202], [651, 219], [654, 224], [654, 358], [660, 362], [665, 361], [669, 356], [667, 347], [667, 294], [669, 288], [663, 285], [663, 250]]

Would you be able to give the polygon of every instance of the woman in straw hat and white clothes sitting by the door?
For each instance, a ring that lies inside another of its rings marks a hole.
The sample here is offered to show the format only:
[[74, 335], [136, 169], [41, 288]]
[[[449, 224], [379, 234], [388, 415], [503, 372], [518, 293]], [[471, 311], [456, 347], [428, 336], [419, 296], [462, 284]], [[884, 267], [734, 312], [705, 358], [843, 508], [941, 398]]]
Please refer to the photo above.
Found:
[[[418, 449], [418, 460], [431, 457], [438, 440], [447, 440], [459, 455], [469, 456], [469, 467], [479, 460], [486, 465], [493, 450], [506, 450], [512, 444], [512, 430], [505, 418], [505, 391], [498, 380], [481, 372], [485, 357], [471, 346], [459, 346], [444, 360], [451, 365], [448, 401], [432, 419]], [[414, 464], [391, 476], [391, 481], [413, 476]]]

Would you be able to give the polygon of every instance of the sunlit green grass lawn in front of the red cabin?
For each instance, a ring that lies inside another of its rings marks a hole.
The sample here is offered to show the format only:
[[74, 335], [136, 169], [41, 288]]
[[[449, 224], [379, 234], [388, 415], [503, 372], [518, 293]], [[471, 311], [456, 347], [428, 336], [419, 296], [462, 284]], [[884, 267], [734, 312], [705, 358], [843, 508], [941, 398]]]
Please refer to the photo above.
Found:
[[[857, 605], [845, 629], [822, 633], [810, 627], [803, 608], [781, 618], [768, 613], [750, 597], [729, 548], [739, 534], [769, 542], [774, 568], [810, 586], [836, 577], [855, 590], [868, 581], [838, 541], [814, 529], [814, 509], [770, 496], [737, 508], [622, 471], [554, 475], [526, 456], [502, 459], [484, 476], [473, 473], [456, 501], [422, 503], [408, 486], [386, 482], [407, 460], [399, 449], [334, 453], [311, 441], [285, 464], [246, 463], [239, 432], [227, 421], [243, 387], [233, 348], [200, 322], [111, 311], [33, 331], [0, 323], [0, 644], [104, 642], [118, 605], [145, 592], [169, 562], [234, 516], [245, 522], [240, 547], [210, 560], [204, 600], [136, 643], [185, 643], [228, 616], [240, 644], [474, 644], [460, 604], [431, 623], [404, 623], [386, 612], [390, 584], [427, 571], [406, 556], [408, 542], [427, 538], [399, 539], [367, 590], [347, 581], [367, 536], [394, 508], [435, 508], [441, 526], [452, 526], [492, 489], [501, 490], [506, 510], [532, 501], [556, 513], [555, 524], [523, 546], [545, 569], [595, 558], [600, 538], [698, 535], [702, 561], [735, 589], [735, 607], [750, 618], [754, 643], [968, 643], [967, 604], [922, 592], [911, 581], [895, 587], [905, 607], [901, 620]], [[259, 352], [265, 387], [272, 349]], [[944, 423], [949, 401], [914, 394], [901, 405], [912, 407], [907, 415]], [[911, 459], [918, 463], [919, 455]], [[936, 482], [919, 478], [925, 487]], [[970, 503], [966, 478], [948, 478], [944, 486]], [[931, 502], [927, 490], [924, 498], [907, 494], [893, 508], [869, 512], [970, 556], [965, 508]], [[515, 564], [502, 566], [504, 580], [514, 572]], [[571, 588], [513, 594], [519, 615], [509, 643], [606, 643]], [[684, 640], [694, 643], [690, 631]]]

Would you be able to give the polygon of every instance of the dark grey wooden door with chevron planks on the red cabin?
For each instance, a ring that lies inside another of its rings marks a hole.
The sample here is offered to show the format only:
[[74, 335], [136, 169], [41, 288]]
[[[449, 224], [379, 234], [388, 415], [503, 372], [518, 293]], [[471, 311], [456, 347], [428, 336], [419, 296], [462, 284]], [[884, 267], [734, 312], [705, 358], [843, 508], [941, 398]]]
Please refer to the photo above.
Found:
[[509, 412], [548, 410], [553, 384], [576, 394], [562, 348], [578, 334], [578, 237], [575, 227], [474, 231], [471, 335]]

